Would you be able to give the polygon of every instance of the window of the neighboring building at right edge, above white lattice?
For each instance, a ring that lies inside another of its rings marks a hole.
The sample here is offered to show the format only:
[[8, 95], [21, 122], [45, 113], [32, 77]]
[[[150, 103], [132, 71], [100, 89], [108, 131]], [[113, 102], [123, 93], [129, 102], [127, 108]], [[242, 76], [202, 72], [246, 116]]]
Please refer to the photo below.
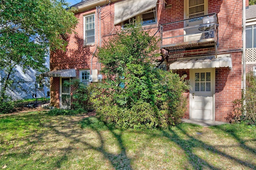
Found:
[[256, 48], [256, 25], [246, 26], [246, 49]]

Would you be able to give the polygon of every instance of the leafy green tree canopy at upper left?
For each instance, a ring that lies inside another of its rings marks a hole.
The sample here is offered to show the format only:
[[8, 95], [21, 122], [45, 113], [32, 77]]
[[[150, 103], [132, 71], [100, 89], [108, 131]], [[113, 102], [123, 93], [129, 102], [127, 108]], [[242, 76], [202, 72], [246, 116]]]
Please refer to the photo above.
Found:
[[40, 72], [50, 48], [65, 49], [66, 35], [78, 22], [63, 8], [67, 5], [65, 0], [0, 0], [1, 101], [17, 65]]

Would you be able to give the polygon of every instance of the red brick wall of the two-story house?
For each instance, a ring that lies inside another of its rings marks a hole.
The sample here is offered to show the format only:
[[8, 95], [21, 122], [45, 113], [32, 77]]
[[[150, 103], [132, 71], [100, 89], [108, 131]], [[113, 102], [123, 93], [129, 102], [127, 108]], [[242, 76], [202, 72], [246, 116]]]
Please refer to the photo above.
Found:
[[[167, 4], [172, 4], [172, 8], [162, 8], [163, 0], [160, 0], [158, 6], [158, 23], [168, 23], [184, 19], [184, 0], [166, 0]], [[218, 31], [219, 47], [218, 52], [231, 53], [233, 67], [216, 68], [216, 94], [215, 94], [215, 117], [216, 121], [225, 121], [224, 117], [233, 110], [232, 101], [241, 98], [242, 81], [242, 0], [208, 0], [208, 13], [218, 13]], [[68, 37], [68, 46], [65, 52], [57, 51], [50, 55], [50, 69], [76, 69], [77, 76], [79, 69], [91, 68], [92, 54], [97, 46], [103, 46], [100, 43], [100, 37], [107, 40], [115, 31], [121, 29], [121, 24], [114, 25], [114, 3], [104, 6], [101, 9], [101, 21], [97, 20], [95, 26], [98, 27], [98, 41], [96, 39], [93, 45], [83, 45], [83, 16], [88, 14], [96, 15], [96, 8], [78, 12], [75, 16], [79, 20], [76, 27], [76, 34]], [[101, 29], [99, 27], [101, 26]], [[154, 26], [158, 26], [155, 24]], [[180, 25], [176, 25], [180, 26]], [[183, 26], [183, 24], [182, 24]], [[101, 32], [99, 31], [101, 30]], [[155, 33], [154, 28], [152, 33]], [[96, 37], [97, 37], [96, 34]], [[159, 34], [158, 34], [159, 35]], [[92, 69], [100, 69], [98, 60], [94, 56], [92, 60]], [[186, 71], [189, 78], [189, 70], [179, 70], [178, 73]], [[72, 88], [73, 92], [74, 88]], [[189, 93], [185, 94], [188, 98]], [[189, 99], [189, 98], [188, 98]], [[59, 78], [52, 78], [51, 102], [59, 106]], [[189, 101], [188, 101], [189, 104]], [[185, 115], [189, 117], [189, 105]]]

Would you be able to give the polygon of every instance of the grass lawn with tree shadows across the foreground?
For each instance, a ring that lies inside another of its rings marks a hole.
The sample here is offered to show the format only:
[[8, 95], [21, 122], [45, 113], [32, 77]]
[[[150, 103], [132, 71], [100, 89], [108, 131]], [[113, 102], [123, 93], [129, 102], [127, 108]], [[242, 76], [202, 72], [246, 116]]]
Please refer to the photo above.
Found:
[[239, 124], [122, 130], [42, 110], [0, 115], [0, 132], [0, 168], [10, 170], [256, 169], [256, 127]]

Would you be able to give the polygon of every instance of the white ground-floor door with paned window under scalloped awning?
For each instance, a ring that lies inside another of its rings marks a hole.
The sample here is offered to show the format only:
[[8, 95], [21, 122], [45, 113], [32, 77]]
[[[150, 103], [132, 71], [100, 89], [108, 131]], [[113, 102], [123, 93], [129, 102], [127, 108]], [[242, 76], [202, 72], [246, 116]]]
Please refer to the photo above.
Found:
[[214, 120], [215, 69], [191, 69], [190, 75], [190, 119]]

